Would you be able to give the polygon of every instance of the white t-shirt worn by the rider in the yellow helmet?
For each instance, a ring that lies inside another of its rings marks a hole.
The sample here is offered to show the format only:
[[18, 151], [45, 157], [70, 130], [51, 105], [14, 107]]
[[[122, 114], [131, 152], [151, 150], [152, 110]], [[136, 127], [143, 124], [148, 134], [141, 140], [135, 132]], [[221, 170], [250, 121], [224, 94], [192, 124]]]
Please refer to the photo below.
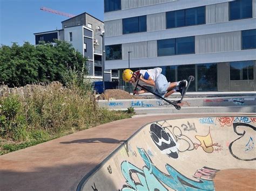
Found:
[[[156, 79], [158, 77], [159, 74], [161, 74], [162, 69], [161, 68], [153, 68], [153, 69], [141, 69], [138, 70], [134, 73], [137, 74], [137, 76], [139, 76], [139, 74], [142, 74], [142, 76], [144, 77], [145, 80], [148, 80], [149, 77], [156, 82]], [[137, 81], [132, 83], [132, 86], [136, 87]], [[139, 81], [140, 86], [150, 86], [149, 84], [143, 82], [143, 81]], [[154, 86], [150, 86], [150, 87], [154, 87]], [[138, 87], [140, 88], [140, 87]]]

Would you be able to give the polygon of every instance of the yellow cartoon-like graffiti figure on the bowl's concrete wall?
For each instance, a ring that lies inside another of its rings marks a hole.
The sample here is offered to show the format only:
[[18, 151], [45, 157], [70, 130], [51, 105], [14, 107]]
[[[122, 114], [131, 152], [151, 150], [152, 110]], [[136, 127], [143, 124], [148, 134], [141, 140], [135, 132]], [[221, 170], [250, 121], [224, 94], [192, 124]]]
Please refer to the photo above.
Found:
[[197, 149], [199, 146], [203, 148], [203, 150], [207, 153], [212, 153], [213, 152], [213, 146], [218, 146], [220, 145], [218, 143], [213, 143], [211, 133], [210, 133], [210, 128], [209, 132], [206, 136], [195, 136], [196, 139], [199, 140], [200, 144], [194, 143], [195, 148]]

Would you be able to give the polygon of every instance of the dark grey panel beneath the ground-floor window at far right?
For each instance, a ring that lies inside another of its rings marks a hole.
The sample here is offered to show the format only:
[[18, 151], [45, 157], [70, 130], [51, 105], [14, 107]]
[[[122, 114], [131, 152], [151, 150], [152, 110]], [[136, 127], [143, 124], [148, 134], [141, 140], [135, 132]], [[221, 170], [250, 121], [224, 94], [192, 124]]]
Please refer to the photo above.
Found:
[[230, 81], [230, 91], [253, 91], [254, 80]]

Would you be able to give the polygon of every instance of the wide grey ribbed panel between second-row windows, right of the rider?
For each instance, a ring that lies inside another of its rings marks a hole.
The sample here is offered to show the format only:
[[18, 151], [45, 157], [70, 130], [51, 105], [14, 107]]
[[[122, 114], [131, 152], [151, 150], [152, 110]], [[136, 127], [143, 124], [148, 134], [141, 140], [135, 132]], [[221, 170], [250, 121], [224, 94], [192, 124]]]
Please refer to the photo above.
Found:
[[196, 54], [241, 50], [241, 31], [196, 36]]

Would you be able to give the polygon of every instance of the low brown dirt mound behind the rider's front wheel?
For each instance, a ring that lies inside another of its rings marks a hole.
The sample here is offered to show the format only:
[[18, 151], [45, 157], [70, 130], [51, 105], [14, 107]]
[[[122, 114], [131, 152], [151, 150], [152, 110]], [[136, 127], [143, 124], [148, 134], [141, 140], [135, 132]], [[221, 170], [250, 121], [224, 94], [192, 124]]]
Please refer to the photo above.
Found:
[[97, 97], [98, 100], [129, 100], [129, 99], [143, 99], [142, 96], [134, 96], [127, 91], [120, 89], [107, 89], [104, 94]]

